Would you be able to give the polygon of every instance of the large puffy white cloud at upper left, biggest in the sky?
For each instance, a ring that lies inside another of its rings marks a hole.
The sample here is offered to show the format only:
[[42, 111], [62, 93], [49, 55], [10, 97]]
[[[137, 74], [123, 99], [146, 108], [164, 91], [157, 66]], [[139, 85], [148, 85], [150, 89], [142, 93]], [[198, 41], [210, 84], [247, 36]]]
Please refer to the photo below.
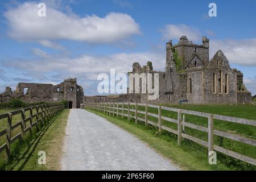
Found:
[[123, 13], [109, 13], [104, 18], [97, 15], [81, 18], [47, 6], [46, 17], [39, 17], [38, 10], [36, 3], [26, 2], [5, 13], [11, 38], [111, 43], [141, 33], [135, 20]]

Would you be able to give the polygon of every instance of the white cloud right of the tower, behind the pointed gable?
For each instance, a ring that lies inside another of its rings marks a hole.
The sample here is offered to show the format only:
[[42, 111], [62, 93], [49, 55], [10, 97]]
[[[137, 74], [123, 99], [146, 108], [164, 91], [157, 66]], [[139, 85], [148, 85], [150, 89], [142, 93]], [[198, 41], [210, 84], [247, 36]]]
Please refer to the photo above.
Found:
[[210, 58], [222, 50], [229, 63], [256, 66], [256, 38], [242, 40], [210, 40]]

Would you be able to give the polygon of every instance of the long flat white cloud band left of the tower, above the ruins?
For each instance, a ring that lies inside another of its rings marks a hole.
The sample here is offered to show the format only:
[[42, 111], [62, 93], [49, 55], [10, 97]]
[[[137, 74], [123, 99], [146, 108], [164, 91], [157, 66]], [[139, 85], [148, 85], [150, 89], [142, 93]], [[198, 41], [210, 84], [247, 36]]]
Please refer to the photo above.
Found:
[[[38, 49], [36, 49], [36, 52], [38, 55], [43, 55], [43, 52]], [[135, 61], [138, 61], [141, 65], [145, 65], [147, 61], [152, 61], [154, 69], [159, 70], [164, 68], [164, 60], [164, 55], [156, 53], [117, 53], [104, 56], [84, 55], [76, 58], [48, 56], [38, 60], [23, 60], [23, 64], [18, 64], [20, 60], [12, 60], [7, 61], [6, 66], [29, 72], [54, 72], [56, 74], [65, 73], [65, 76], [68, 76], [68, 74], [75, 76], [89, 73], [109, 73], [110, 69], [127, 73], [132, 70]]]

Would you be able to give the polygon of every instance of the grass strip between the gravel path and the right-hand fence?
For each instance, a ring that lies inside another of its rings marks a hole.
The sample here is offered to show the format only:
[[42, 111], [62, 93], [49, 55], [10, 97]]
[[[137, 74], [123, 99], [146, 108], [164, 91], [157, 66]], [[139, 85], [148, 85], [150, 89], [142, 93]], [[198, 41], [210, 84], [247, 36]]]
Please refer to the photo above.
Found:
[[122, 129], [133, 134], [138, 139], [147, 143], [156, 152], [170, 159], [173, 164], [176, 164], [184, 170], [232, 170], [223, 163], [217, 162], [217, 165], [209, 165], [207, 148], [203, 148], [196, 143], [184, 140], [181, 146], [177, 146], [177, 137], [163, 131], [161, 135], [157, 133], [155, 127], [144, 127], [143, 123], [137, 125], [133, 121], [109, 116], [98, 111], [88, 111], [106, 118], [108, 121], [121, 127]]

